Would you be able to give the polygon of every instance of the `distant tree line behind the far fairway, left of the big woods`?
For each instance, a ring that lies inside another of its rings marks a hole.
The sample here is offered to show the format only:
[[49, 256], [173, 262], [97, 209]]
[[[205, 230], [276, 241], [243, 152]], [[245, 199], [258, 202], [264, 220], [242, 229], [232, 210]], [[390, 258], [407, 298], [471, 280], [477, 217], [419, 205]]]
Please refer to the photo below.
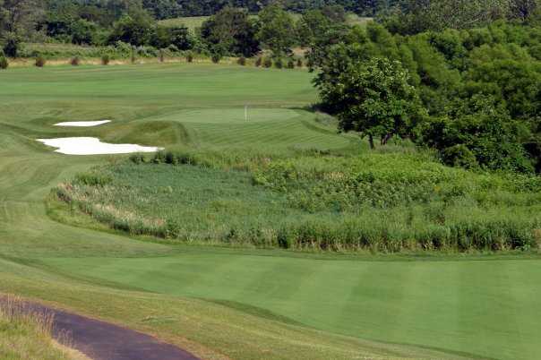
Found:
[[5, 56], [18, 56], [21, 42], [62, 42], [78, 45], [193, 50], [207, 56], [254, 56], [269, 49], [273, 56], [291, 55], [291, 48], [308, 46], [331, 24], [346, 27], [346, 10], [339, 5], [293, 16], [281, 4], [258, 13], [226, 6], [202, 23], [201, 29], [160, 25], [144, 3], [55, 0], [43, 8], [39, 0], [0, 0], [0, 44]]

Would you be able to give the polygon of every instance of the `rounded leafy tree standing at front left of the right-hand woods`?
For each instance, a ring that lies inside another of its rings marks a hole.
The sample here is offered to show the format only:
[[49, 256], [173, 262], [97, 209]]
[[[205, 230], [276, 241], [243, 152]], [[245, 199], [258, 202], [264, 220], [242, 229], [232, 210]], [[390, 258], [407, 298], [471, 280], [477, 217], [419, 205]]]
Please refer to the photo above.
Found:
[[323, 102], [333, 102], [338, 110], [340, 129], [367, 136], [374, 149], [374, 138], [385, 145], [394, 135], [408, 137], [425, 115], [408, 78], [399, 62], [374, 57], [316, 85]]

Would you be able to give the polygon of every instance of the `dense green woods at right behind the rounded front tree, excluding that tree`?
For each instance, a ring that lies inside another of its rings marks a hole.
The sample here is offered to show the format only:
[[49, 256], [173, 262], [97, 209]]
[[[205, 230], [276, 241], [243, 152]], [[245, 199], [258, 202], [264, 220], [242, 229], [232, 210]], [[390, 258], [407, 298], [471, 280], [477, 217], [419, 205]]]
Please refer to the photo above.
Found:
[[[343, 94], [358, 101], [356, 94], [363, 91], [348, 91], [344, 74], [367, 66], [374, 57], [398, 61], [428, 113], [422, 122], [402, 127], [407, 129], [402, 135], [439, 150], [447, 164], [530, 172], [532, 163], [539, 163], [534, 143], [541, 133], [541, 66], [533, 56], [541, 48], [538, 35], [527, 24], [500, 21], [486, 28], [404, 37], [371, 23], [365, 30], [350, 30], [342, 36], [343, 44], [322, 47], [309, 59], [320, 70], [316, 85], [323, 108], [355, 113], [349, 114], [352, 119], [362, 113], [340, 101], [348, 100]], [[372, 110], [390, 114], [383, 107]]]

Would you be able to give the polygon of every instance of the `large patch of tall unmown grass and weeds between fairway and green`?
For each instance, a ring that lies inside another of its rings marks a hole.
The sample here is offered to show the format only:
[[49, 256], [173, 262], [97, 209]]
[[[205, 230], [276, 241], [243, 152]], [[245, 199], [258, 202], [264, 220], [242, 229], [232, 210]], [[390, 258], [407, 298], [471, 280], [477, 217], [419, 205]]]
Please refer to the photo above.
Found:
[[527, 250], [541, 224], [539, 178], [476, 174], [421, 154], [303, 155], [253, 161], [251, 174], [190, 152], [161, 151], [156, 165], [130, 159], [56, 193], [136, 235], [284, 249]]

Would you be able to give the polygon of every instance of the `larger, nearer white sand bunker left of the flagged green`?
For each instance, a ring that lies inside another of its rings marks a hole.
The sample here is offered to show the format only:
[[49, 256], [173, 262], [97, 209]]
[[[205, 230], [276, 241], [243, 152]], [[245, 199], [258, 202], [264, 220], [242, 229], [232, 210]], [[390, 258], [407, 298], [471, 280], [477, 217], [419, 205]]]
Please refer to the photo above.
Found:
[[141, 146], [134, 144], [110, 144], [101, 142], [97, 138], [59, 138], [38, 139], [38, 141], [58, 148], [56, 152], [66, 155], [105, 155], [105, 154], [129, 154], [132, 152], [156, 152], [163, 148]]

